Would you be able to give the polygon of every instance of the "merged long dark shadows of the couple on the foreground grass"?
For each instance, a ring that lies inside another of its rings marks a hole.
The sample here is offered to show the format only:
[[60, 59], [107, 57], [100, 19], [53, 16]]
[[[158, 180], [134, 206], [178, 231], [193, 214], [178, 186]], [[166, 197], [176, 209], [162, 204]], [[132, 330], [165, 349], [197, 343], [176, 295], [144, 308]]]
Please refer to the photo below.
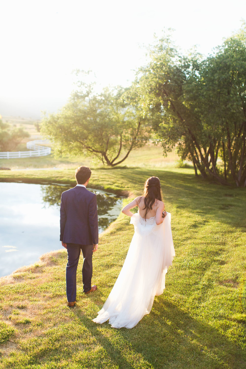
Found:
[[119, 368], [237, 368], [246, 366], [246, 353], [215, 328], [156, 298], [149, 315], [128, 330], [106, 322], [96, 324], [77, 308], [75, 315], [96, 344]]

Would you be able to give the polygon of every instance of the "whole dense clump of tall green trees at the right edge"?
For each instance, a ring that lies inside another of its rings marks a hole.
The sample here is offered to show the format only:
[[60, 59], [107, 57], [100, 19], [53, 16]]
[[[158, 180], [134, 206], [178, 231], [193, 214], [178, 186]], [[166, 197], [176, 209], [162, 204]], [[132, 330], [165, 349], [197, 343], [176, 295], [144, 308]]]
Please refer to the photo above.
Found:
[[159, 113], [153, 128], [164, 154], [178, 143], [178, 154], [192, 160], [196, 174], [245, 187], [245, 30], [204, 61], [180, 55], [170, 37], [160, 39], [150, 56], [137, 80], [146, 86], [155, 117]]

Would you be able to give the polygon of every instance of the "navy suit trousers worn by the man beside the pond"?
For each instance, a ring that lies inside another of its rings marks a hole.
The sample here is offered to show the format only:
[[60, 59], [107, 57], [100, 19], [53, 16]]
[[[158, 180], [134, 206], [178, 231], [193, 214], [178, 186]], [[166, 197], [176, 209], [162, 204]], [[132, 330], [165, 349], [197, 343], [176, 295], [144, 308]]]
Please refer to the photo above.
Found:
[[76, 301], [76, 274], [80, 250], [82, 250], [84, 258], [82, 268], [83, 290], [84, 292], [88, 292], [91, 289], [92, 249], [93, 245], [67, 243], [66, 293], [67, 301], [69, 302]]

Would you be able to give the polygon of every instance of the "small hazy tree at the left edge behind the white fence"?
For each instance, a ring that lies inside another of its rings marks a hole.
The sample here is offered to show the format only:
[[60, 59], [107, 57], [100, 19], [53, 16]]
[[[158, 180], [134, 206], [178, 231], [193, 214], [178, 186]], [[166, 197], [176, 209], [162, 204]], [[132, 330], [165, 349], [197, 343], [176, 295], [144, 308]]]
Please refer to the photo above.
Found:
[[14, 151], [23, 138], [30, 136], [22, 127], [10, 127], [0, 119], [0, 151]]

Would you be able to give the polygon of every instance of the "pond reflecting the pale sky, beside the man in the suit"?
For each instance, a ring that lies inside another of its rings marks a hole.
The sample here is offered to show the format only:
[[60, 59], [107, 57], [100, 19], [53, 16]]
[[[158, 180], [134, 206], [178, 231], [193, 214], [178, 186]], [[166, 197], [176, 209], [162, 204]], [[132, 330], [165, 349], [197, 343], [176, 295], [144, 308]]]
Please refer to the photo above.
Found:
[[[0, 277], [33, 264], [46, 252], [62, 248], [60, 196], [69, 188], [57, 184], [0, 183]], [[89, 190], [97, 194], [101, 233], [118, 217], [122, 198], [103, 190]]]

